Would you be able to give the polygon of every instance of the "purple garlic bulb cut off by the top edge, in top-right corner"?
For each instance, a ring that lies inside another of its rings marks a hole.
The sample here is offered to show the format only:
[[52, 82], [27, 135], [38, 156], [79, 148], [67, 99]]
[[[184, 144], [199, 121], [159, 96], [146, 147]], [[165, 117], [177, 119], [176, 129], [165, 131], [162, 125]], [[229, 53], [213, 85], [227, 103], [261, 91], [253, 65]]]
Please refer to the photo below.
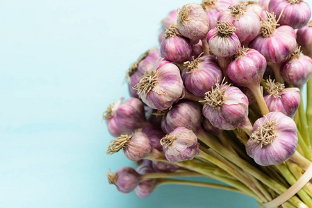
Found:
[[294, 29], [304, 27], [311, 17], [309, 4], [302, 0], [270, 0], [269, 11], [279, 17], [279, 24]]

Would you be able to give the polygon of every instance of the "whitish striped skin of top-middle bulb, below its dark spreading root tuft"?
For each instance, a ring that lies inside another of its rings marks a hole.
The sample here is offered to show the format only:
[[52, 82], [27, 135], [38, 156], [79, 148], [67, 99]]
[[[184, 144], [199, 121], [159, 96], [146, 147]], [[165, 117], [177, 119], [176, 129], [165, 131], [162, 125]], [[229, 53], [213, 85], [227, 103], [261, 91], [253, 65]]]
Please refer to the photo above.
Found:
[[240, 48], [240, 40], [234, 32], [231, 35], [223, 36], [217, 33], [217, 28], [212, 28], [206, 39], [211, 52], [217, 57], [229, 58]]

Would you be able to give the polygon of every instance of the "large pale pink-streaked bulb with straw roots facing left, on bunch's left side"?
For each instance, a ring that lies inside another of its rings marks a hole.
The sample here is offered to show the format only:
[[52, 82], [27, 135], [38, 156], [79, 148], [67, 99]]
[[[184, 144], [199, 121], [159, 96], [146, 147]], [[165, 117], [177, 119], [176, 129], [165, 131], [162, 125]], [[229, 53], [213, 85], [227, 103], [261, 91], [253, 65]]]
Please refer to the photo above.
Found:
[[158, 58], [153, 68], [145, 71], [140, 78], [136, 89], [143, 103], [153, 109], [165, 110], [183, 93], [180, 69], [163, 58]]

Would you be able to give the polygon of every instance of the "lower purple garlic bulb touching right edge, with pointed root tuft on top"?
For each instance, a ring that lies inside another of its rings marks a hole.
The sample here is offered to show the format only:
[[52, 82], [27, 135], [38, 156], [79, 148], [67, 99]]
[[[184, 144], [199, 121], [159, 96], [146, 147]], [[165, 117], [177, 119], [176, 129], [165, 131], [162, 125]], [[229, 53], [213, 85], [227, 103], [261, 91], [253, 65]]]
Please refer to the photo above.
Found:
[[287, 62], [281, 65], [281, 77], [286, 83], [302, 89], [312, 74], [312, 60], [309, 56], [300, 55], [300, 47], [290, 55]]

